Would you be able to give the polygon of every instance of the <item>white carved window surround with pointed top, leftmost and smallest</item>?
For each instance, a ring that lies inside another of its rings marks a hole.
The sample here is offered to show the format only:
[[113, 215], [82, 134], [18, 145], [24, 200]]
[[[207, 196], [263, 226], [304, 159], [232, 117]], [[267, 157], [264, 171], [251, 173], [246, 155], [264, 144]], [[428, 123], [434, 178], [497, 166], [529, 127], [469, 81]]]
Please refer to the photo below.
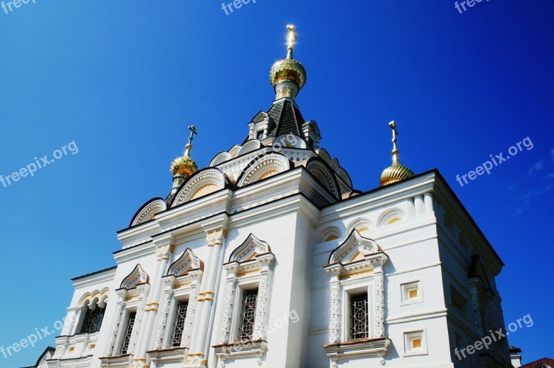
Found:
[[[132, 356], [134, 356], [136, 340], [139, 337], [139, 331], [141, 331], [146, 302], [148, 301], [148, 293], [150, 292], [150, 284], [148, 284], [148, 281], [148, 274], [143, 270], [140, 264], [137, 264], [134, 270], [123, 279], [120, 288], [116, 290], [118, 297], [116, 311], [108, 335], [105, 358], [101, 358], [102, 365], [115, 364], [127, 360], [130, 362]], [[129, 353], [121, 355], [120, 349], [127, 327], [127, 320], [130, 313], [133, 312], [136, 312], [136, 318], [133, 324], [131, 340], [129, 342]]]

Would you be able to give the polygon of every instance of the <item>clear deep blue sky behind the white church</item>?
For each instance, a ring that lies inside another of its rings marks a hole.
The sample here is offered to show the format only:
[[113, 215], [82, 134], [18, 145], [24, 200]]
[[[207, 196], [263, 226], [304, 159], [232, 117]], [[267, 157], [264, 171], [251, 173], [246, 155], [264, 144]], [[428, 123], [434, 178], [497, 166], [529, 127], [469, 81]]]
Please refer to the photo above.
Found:
[[[0, 174], [59, 159], [0, 183], [0, 345], [53, 329], [71, 277], [114, 266], [116, 230], [168, 194], [188, 125], [200, 167], [244, 140], [274, 100], [269, 68], [285, 57], [292, 23], [307, 70], [297, 102], [321, 147], [371, 190], [390, 165], [396, 120], [400, 161], [416, 173], [437, 167], [506, 264], [506, 324], [528, 313], [534, 322], [510, 344], [525, 362], [554, 356], [553, 1], [481, 1], [462, 14], [445, 0], [257, 0], [229, 15], [212, 0], [7, 9]], [[532, 149], [520, 144], [490, 174], [456, 181], [527, 137]], [[48, 344], [53, 335], [0, 355], [0, 367], [34, 364]]]

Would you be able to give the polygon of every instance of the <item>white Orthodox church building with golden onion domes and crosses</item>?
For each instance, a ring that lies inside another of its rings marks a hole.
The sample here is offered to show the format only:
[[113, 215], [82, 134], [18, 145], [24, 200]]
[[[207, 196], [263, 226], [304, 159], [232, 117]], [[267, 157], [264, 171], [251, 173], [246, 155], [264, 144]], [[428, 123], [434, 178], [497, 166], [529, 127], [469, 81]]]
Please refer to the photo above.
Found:
[[73, 279], [43, 365], [512, 367], [506, 339], [459, 353], [504, 328], [501, 259], [437, 169], [400, 164], [395, 122], [392, 165], [355, 189], [296, 103], [288, 29], [269, 109], [203, 169], [190, 127], [168, 194], [117, 233], [116, 266]]

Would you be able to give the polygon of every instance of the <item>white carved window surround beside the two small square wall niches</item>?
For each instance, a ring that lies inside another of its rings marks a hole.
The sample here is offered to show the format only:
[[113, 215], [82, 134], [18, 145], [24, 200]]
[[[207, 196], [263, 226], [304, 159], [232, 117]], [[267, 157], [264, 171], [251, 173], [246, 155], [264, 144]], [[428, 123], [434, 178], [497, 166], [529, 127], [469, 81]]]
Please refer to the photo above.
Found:
[[[335, 248], [328, 264], [323, 266], [330, 275], [329, 344], [323, 345], [333, 368], [341, 360], [355, 357], [384, 356], [391, 340], [385, 335], [384, 272], [388, 256], [373, 241], [352, 230], [346, 240]], [[368, 293], [368, 338], [350, 338], [350, 297]]]

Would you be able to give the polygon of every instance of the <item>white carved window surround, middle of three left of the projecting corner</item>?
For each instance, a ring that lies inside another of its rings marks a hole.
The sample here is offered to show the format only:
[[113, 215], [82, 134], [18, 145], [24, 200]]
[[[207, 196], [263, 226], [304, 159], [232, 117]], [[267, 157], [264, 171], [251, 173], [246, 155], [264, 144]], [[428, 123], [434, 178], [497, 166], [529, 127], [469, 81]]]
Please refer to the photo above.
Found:
[[[197, 309], [197, 301], [204, 274], [204, 263], [187, 248], [183, 255], [177, 259], [168, 269], [168, 274], [162, 277], [163, 303], [158, 322], [154, 351], [161, 349], [183, 349], [179, 354], [183, 358], [190, 348], [190, 339], [193, 333], [193, 323]], [[172, 322], [175, 319], [179, 302], [188, 302], [185, 318], [183, 338], [180, 347], [172, 347]], [[149, 351], [152, 356], [153, 351]]]

